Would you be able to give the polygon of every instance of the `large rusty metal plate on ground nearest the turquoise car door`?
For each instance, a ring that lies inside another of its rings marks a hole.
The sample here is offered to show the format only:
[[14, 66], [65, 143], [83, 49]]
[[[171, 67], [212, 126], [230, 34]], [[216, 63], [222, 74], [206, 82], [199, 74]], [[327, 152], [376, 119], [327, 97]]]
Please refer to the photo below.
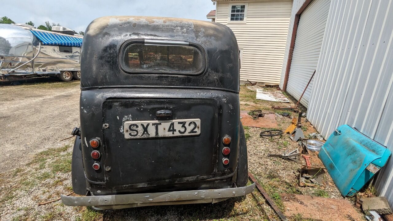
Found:
[[303, 219], [322, 221], [361, 221], [355, 208], [344, 199], [313, 197], [309, 195], [284, 194], [282, 199], [285, 215], [294, 217], [301, 214]]

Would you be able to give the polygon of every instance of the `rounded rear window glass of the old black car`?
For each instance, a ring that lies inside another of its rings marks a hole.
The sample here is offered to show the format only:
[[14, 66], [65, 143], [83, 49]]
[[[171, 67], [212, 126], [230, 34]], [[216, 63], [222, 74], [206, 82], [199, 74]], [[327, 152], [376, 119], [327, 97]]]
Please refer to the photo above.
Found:
[[123, 50], [123, 68], [129, 72], [199, 74], [204, 59], [195, 46], [138, 43]]

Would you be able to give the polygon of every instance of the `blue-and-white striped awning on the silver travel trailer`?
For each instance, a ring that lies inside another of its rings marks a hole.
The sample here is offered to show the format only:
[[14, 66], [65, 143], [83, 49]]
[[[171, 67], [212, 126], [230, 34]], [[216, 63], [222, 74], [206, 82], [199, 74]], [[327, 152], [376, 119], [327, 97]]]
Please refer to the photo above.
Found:
[[35, 37], [42, 41], [43, 45], [60, 45], [82, 47], [82, 38], [77, 38], [68, 35], [58, 35], [56, 33], [49, 33], [44, 31], [30, 30]]

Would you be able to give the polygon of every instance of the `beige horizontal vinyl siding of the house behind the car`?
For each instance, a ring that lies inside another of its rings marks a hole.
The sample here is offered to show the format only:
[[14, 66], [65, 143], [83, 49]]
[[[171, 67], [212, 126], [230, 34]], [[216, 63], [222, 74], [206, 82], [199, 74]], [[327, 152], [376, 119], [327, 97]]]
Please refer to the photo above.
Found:
[[[230, 4], [248, 4], [246, 23], [228, 24]], [[241, 81], [279, 84], [291, 0], [217, 2], [216, 22], [230, 27], [243, 49]]]

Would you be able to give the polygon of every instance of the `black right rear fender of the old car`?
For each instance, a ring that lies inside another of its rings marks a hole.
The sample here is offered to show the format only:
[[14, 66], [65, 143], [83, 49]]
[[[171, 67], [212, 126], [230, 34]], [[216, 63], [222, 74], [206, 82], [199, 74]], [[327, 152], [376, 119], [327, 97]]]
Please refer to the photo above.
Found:
[[247, 142], [244, 134], [244, 128], [240, 123], [240, 140], [239, 140], [239, 158], [237, 161], [237, 178], [236, 186], [243, 187], [248, 181], [248, 160], [247, 160]]

